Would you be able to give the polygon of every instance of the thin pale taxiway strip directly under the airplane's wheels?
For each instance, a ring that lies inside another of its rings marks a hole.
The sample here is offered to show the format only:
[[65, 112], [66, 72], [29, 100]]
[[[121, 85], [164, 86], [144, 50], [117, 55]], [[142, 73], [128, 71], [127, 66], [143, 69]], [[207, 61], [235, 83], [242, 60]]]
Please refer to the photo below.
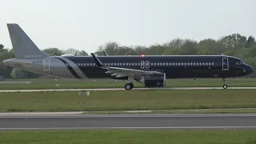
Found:
[[[256, 87], [228, 87], [227, 90], [255, 90]], [[14, 92], [42, 92], [42, 91], [106, 91], [125, 90], [124, 88], [99, 88], [99, 89], [46, 89], [46, 90], [0, 90], [0, 93]], [[134, 88], [133, 90], [223, 90], [222, 87], [162, 87], [162, 88]]]

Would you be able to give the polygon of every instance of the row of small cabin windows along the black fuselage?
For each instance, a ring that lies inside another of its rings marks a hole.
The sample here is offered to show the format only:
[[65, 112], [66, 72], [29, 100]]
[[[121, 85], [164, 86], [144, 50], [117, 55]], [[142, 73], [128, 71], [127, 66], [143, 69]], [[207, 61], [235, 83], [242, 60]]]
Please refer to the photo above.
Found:
[[[148, 63], [145, 63], [148, 66]], [[66, 63], [66, 66], [69, 64]], [[95, 63], [75, 63], [77, 66], [95, 66]], [[141, 66], [141, 63], [104, 63], [105, 66]], [[214, 66], [214, 62], [154, 62], [151, 66]]]

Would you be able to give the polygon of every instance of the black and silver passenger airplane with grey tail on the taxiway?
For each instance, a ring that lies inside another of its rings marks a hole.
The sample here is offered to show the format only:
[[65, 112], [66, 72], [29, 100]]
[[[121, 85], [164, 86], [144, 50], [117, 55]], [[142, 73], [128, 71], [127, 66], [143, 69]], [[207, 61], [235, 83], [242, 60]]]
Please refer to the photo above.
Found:
[[167, 78], [226, 78], [244, 77], [254, 72], [240, 58], [227, 55], [107, 55], [48, 56], [38, 49], [17, 23], [7, 23], [15, 58], [4, 64], [22, 70], [56, 78], [113, 78], [128, 81], [125, 90], [134, 82], [146, 87], [166, 86]]

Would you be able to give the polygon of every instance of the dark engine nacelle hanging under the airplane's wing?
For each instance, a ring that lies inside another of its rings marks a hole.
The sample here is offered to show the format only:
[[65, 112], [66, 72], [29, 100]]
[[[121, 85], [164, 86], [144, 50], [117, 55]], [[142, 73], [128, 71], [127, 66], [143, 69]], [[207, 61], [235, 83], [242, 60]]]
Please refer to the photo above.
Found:
[[166, 86], [166, 74], [146, 74], [138, 82], [149, 87]]

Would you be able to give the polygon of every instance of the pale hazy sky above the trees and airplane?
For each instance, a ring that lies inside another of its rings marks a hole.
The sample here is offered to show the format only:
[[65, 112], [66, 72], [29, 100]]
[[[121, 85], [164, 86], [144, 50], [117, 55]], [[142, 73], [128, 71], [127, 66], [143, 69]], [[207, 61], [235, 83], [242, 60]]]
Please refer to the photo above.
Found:
[[11, 47], [6, 23], [18, 23], [39, 49], [89, 53], [106, 42], [256, 37], [255, 6], [255, 0], [0, 0], [0, 43]]

